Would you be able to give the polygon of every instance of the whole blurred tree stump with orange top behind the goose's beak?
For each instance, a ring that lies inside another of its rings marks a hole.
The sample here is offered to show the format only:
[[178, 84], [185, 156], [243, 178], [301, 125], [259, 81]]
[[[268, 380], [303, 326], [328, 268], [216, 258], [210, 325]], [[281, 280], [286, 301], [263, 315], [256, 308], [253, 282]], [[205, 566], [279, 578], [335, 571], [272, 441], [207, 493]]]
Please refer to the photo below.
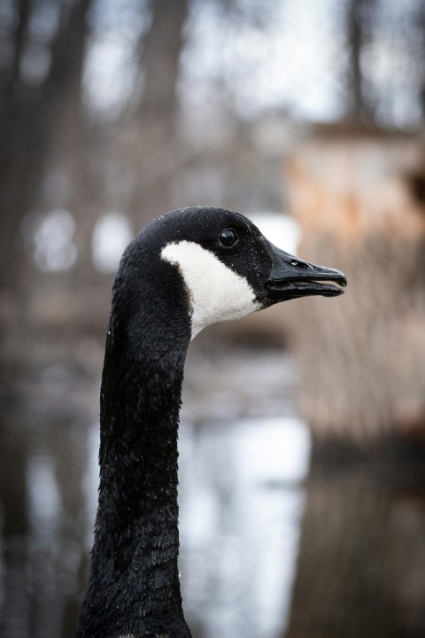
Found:
[[335, 303], [291, 308], [299, 408], [321, 443], [425, 449], [422, 153], [418, 136], [333, 126], [287, 160], [299, 253], [348, 278]]

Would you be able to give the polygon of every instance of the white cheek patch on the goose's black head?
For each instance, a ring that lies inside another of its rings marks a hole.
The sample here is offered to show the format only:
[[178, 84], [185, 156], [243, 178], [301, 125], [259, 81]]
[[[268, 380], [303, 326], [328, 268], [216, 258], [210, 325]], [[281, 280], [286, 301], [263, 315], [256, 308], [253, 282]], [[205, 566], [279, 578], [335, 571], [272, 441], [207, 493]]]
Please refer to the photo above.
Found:
[[259, 310], [255, 292], [246, 279], [196, 242], [168, 244], [161, 257], [179, 267], [189, 291], [192, 338], [211, 323], [240, 319]]

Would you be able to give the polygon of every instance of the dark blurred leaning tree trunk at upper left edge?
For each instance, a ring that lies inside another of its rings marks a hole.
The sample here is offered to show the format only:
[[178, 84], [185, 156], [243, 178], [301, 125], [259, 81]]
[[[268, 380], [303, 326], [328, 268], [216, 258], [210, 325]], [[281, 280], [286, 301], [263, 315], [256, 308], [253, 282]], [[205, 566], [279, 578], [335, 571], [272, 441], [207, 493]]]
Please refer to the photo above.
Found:
[[[63, 4], [58, 33], [50, 43], [50, 70], [41, 85], [28, 86], [19, 75], [27, 25], [35, 0], [21, 0], [14, 32], [14, 58], [4, 78], [0, 125], [0, 292], [6, 306], [17, 302], [9, 316], [9, 354], [22, 350], [25, 308], [31, 286], [31, 265], [21, 236], [25, 215], [37, 209], [52, 138], [64, 109], [80, 108], [82, 63], [87, 37], [87, 13], [92, 0]], [[12, 321], [11, 321], [12, 319]]]

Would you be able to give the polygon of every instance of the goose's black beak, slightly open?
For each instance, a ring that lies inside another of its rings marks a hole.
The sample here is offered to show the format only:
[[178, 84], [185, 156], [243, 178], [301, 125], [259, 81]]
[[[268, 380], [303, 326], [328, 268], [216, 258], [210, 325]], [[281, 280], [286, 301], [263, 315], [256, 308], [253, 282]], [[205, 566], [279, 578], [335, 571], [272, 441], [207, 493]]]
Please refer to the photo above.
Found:
[[345, 287], [347, 280], [340, 270], [315, 266], [276, 248], [267, 239], [266, 243], [273, 260], [266, 284], [270, 301], [275, 303], [310, 295], [336, 297], [344, 293], [340, 286]]

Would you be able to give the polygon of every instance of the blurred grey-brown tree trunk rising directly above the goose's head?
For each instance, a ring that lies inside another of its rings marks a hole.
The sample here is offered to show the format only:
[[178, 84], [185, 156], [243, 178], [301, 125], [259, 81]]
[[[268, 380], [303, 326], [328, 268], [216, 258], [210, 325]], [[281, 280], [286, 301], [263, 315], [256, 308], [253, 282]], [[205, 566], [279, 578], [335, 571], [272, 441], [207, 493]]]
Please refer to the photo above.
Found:
[[136, 113], [135, 226], [182, 206], [182, 152], [177, 134], [177, 86], [188, 0], [153, 0], [143, 51], [144, 91]]

